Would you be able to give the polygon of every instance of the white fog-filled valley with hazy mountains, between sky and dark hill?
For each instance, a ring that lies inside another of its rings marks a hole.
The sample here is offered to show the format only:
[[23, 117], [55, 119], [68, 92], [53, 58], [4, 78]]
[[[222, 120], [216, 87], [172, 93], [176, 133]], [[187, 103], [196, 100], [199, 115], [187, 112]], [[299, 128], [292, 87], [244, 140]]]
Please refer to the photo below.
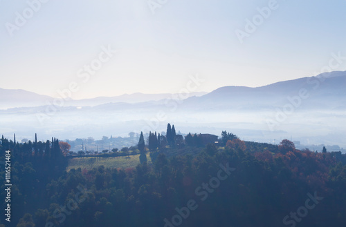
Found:
[[182, 133], [219, 135], [228, 130], [248, 141], [274, 143], [292, 137], [301, 144], [345, 148], [345, 85], [346, 72], [331, 72], [260, 88], [228, 86], [184, 100], [176, 95], [174, 99], [127, 99], [98, 106], [73, 106], [73, 101], [66, 101], [64, 106], [0, 110], [0, 127], [8, 138], [16, 133], [18, 139], [33, 139], [37, 132], [42, 140], [51, 135], [100, 139], [104, 135], [127, 137], [141, 130], [161, 132], [171, 122]]

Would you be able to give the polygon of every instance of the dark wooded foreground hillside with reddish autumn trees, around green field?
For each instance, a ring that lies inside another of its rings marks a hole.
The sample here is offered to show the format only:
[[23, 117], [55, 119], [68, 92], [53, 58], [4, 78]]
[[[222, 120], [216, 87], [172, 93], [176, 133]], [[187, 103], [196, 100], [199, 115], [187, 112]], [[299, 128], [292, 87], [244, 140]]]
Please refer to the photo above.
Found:
[[[153, 147], [151, 165], [69, 172], [57, 139], [3, 139], [1, 153], [10, 149], [15, 160], [12, 221], [18, 227], [345, 226], [346, 166], [333, 153], [296, 150], [286, 139], [274, 146], [225, 137], [221, 146]], [[142, 137], [138, 150], [145, 146]]]

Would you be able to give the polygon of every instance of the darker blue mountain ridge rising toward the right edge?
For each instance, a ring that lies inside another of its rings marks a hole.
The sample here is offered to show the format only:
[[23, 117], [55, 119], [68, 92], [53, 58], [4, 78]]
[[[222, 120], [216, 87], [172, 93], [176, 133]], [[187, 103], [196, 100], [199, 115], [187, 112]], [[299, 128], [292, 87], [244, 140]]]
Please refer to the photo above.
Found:
[[190, 108], [208, 106], [214, 109], [253, 110], [292, 103], [299, 104], [300, 108], [304, 109], [345, 109], [345, 88], [346, 71], [338, 71], [323, 73], [316, 77], [272, 83], [258, 88], [226, 86], [202, 97], [190, 97], [183, 105]]

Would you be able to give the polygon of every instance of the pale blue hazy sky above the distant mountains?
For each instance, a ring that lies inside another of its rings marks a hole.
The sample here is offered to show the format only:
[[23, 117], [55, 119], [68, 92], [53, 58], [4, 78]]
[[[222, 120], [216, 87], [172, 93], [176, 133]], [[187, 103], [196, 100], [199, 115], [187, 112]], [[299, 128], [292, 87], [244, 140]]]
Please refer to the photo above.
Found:
[[[345, 0], [153, 0], [166, 2], [155, 14], [147, 0], [37, 1], [0, 0], [0, 88], [58, 97], [75, 82], [74, 99], [179, 92], [199, 73], [194, 91], [212, 91], [310, 77], [332, 53], [346, 56]], [[257, 25], [241, 43], [247, 19]]]

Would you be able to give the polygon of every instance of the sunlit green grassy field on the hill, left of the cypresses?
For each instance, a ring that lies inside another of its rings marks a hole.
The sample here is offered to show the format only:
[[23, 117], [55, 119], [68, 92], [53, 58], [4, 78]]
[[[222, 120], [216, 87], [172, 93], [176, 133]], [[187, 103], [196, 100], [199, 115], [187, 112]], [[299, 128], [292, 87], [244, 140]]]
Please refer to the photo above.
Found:
[[[105, 168], [129, 168], [136, 167], [140, 164], [139, 155], [130, 155], [128, 157], [75, 157], [69, 160], [69, 165], [66, 170], [69, 171], [73, 168], [78, 169], [92, 169], [97, 166], [104, 166]], [[147, 162], [151, 164], [152, 161], [147, 154]]]

